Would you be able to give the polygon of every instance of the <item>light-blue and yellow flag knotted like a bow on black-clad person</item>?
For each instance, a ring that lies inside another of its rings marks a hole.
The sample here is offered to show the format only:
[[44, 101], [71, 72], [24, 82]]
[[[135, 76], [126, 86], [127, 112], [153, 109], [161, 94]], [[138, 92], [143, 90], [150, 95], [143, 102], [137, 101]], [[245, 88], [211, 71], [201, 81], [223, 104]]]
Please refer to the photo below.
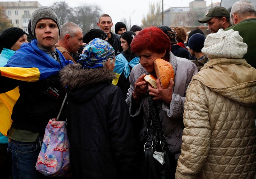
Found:
[[114, 73], [116, 73], [116, 78], [113, 79], [112, 84], [116, 85], [118, 83], [119, 77], [124, 71], [124, 76], [127, 78], [130, 75], [130, 67], [132, 68], [137, 65], [140, 61], [140, 58], [137, 56], [128, 62], [123, 54], [118, 54], [116, 56]]

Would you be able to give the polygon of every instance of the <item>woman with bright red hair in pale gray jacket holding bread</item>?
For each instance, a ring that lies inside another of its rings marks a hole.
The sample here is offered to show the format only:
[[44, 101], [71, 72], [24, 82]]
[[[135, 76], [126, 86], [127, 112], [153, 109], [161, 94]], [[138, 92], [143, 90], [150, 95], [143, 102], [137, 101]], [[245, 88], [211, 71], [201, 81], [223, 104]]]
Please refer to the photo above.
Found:
[[[154, 96], [154, 100], [157, 100], [164, 136], [177, 161], [181, 152], [186, 90], [191, 78], [197, 73], [196, 65], [185, 58], [174, 56], [171, 52], [170, 39], [157, 27], [140, 31], [132, 40], [131, 50], [140, 57], [140, 63], [133, 67], [129, 78], [131, 87], [126, 102], [130, 116], [142, 114], [146, 124], [149, 116], [148, 95]], [[154, 61], [157, 58], [170, 62], [174, 69], [174, 79], [170, 80], [166, 89], [161, 87], [159, 79], [156, 80], [157, 89], [143, 80], [146, 74], [156, 76]], [[145, 134], [145, 131], [142, 130], [141, 133]]]

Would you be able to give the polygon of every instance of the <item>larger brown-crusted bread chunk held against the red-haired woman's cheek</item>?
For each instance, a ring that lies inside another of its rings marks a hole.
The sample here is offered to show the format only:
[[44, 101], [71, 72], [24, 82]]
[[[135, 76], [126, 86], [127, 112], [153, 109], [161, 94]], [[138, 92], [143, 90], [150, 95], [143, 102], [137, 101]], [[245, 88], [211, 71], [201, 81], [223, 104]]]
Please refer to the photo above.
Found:
[[174, 70], [170, 62], [166, 62], [161, 58], [154, 61], [156, 77], [160, 79], [161, 86], [166, 89], [170, 83], [171, 78], [174, 79]]

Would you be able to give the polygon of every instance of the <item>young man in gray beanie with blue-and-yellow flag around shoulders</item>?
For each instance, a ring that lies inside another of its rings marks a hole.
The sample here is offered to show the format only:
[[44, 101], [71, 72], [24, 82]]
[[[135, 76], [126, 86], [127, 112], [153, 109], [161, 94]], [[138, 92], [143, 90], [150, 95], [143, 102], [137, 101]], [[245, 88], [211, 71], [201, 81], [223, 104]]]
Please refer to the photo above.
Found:
[[[20, 96], [12, 110], [13, 122], [7, 133], [7, 151], [12, 157], [14, 179], [42, 177], [35, 168], [40, 141], [49, 119], [58, 115], [65, 96], [58, 73], [72, 63], [55, 48], [59, 27], [59, 19], [52, 8], [38, 8], [31, 18], [31, 33], [36, 39], [22, 44], [5, 68], [0, 68], [0, 93], [20, 88]], [[15, 73], [6, 76], [9, 71]]]

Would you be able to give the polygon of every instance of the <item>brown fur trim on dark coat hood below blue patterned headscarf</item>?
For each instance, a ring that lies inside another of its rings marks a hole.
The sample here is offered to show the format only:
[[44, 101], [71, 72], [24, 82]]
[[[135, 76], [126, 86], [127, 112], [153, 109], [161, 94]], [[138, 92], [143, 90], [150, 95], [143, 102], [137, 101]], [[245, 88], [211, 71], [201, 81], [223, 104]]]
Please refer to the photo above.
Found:
[[60, 71], [62, 85], [71, 90], [103, 81], [110, 81], [111, 83], [114, 78], [115, 74], [104, 67], [84, 69], [80, 64], [70, 64]]

